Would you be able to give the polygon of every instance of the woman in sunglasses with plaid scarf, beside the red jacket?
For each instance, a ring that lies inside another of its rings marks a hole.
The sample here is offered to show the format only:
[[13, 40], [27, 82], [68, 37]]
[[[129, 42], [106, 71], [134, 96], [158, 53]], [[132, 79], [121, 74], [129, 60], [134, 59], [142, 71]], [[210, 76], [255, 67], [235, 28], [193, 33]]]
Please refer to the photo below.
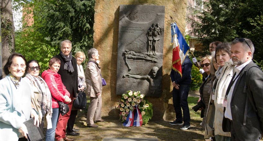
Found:
[[23, 78], [31, 87], [31, 103], [39, 113], [40, 128], [43, 131], [44, 122], [47, 129], [52, 127], [52, 99], [47, 83], [39, 76], [40, 66], [37, 60], [30, 60], [26, 65], [26, 75]]

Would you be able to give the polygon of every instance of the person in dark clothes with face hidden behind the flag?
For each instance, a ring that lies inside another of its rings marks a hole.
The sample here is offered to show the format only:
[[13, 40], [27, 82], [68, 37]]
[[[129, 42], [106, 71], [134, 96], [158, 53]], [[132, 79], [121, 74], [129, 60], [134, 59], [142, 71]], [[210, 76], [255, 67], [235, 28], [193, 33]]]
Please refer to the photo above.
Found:
[[[173, 106], [176, 113], [176, 120], [170, 122], [171, 125], [183, 125], [180, 129], [187, 130], [190, 128], [190, 113], [189, 106], [187, 102], [187, 97], [189, 94], [190, 83], [192, 80], [191, 70], [192, 62], [188, 56], [185, 56], [185, 60], [182, 63], [182, 76], [180, 73], [172, 69], [171, 71], [171, 80], [173, 85]], [[182, 117], [182, 110], [184, 114], [184, 119]], [[184, 123], [183, 123], [184, 121]]]

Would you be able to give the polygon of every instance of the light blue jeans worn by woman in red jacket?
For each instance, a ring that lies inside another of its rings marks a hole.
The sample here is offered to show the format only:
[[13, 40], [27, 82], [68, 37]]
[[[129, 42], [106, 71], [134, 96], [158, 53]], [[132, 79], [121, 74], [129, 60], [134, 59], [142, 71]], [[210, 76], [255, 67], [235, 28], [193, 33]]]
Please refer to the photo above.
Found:
[[56, 132], [59, 115], [60, 115], [59, 108], [53, 108], [53, 113], [51, 118], [52, 128], [47, 129], [46, 141], [55, 141], [55, 132]]

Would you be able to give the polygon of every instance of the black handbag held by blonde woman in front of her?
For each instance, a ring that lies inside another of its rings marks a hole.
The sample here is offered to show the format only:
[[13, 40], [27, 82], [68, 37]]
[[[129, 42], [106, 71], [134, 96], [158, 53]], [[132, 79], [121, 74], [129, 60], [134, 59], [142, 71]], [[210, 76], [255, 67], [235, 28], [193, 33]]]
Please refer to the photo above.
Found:
[[73, 101], [73, 104], [75, 108], [84, 110], [87, 106], [86, 93], [84, 93], [83, 91], [80, 91], [76, 99]]

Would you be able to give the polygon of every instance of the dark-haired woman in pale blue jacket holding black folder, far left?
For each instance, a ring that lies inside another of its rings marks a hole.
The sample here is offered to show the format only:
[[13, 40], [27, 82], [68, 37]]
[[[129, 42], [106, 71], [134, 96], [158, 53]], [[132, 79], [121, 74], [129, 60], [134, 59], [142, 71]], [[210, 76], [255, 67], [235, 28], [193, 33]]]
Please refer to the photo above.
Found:
[[27, 140], [28, 129], [23, 122], [38, 115], [31, 105], [30, 86], [21, 79], [25, 74], [26, 59], [20, 53], [8, 57], [3, 71], [5, 78], [0, 80], [0, 140]]

